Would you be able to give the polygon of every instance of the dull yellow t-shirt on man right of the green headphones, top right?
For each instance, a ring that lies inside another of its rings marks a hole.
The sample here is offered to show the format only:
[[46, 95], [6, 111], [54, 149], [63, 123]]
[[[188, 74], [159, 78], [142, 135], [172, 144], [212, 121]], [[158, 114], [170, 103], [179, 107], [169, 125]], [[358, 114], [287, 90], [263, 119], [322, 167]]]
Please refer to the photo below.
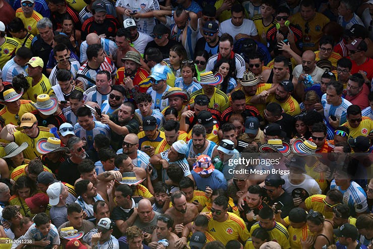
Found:
[[319, 49], [320, 38], [324, 35], [323, 28], [329, 22], [329, 18], [318, 12], [315, 13], [314, 19], [309, 22], [303, 20], [303, 18], [300, 16], [300, 12], [295, 13], [291, 17], [291, 23], [294, 25], [299, 25], [303, 31], [303, 51], [316, 51]]

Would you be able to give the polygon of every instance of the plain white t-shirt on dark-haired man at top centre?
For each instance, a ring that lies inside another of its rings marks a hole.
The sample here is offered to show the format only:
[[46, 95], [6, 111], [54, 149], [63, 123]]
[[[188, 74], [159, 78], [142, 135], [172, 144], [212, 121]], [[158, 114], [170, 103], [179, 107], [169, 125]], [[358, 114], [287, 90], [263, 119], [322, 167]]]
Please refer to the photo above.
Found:
[[255, 26], [252, 20], [243, 19], [243, 23], [241, 26], [234, 26], [232, 24], [232, 19], [228, 19], [220, 24], [219, 27], [219, 36], [224, 33], [228, 33], [233, 37], [233, 43], [236, 42], [234, 38], [237, 34], [246, 34], [250, 36], [258, 35], [257, 27]]

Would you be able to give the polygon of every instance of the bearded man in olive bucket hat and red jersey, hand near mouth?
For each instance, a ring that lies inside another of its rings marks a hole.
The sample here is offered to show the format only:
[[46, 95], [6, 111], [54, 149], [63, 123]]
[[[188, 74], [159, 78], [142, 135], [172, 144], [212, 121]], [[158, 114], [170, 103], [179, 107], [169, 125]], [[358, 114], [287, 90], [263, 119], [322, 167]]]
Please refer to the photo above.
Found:
[[121, 58], [124, 67], [116, 72], [115, 85], [122, 85], [127, 90], [127, 98], [133, 100], [139, 92], [146, 92], [150, 87], [147, 80], [149, 74], [145, 69], [140, 68], [141, 55], [137, 51], [128, 51]]

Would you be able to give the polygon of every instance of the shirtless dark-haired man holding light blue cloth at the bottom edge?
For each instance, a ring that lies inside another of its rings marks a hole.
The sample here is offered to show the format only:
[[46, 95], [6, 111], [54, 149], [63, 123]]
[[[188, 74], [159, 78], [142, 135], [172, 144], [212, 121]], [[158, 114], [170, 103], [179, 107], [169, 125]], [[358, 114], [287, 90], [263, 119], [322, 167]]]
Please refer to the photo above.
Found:
[[[152, 235], [152, 242], [148, 245], [152, 249], [157, 248], [166, 248], [166, 249], [173, 249], [175, 248], [175, 242], [177, 241], [178, 237], [176, 234], [172, 232], [173, 226], [173, 219], [171, 216], [167, 214], [161, 214], [157, 218], [157, 227], [153, 231]], [[168, 244], [164, 239], [168, 240]], [[163, 240], [163, 241], [161, 241]], [[158, 246], [158, 244], [162, 244], [163, 246]]]

